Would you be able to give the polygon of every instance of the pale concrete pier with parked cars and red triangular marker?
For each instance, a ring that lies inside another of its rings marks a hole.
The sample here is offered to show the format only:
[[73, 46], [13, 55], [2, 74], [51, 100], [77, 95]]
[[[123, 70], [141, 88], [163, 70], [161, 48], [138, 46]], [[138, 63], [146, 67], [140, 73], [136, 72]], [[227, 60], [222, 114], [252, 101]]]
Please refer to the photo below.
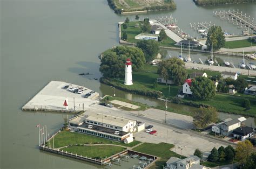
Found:
[[[83, 94], [75, 94], [68, 89], [63, 89], [64, 86], [69, 85], [70, 87], [82, 87], [73, 85], [66, 82], [51, 81], [41, 91], [39, 91], [28, 103], [26, 103], [22, 110], [38, 110], [38, 111], [59, 111], [59, 112], [70, 112], [82, 111], [90, 108], [91, 105], [99, 102], [99, 94], [93, 93], [90, 97], [84, 98], [86, 93], [89, 93], [90, 89], [84, 88]], [[66, 110], [63, 105], [65, 98], [68, 98], [69, 109]], [[75, 100], [75, 102], [74, 102]]]

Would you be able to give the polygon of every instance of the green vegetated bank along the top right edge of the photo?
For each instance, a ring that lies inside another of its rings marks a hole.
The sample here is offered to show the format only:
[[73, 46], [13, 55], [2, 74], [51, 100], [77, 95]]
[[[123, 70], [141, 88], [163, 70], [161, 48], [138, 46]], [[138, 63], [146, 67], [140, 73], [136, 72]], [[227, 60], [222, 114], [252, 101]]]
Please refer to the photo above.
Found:
[[256, 2], [256, 0], [193, 0], [197, 5], [223, 5], [234, 3], [249, 3]]

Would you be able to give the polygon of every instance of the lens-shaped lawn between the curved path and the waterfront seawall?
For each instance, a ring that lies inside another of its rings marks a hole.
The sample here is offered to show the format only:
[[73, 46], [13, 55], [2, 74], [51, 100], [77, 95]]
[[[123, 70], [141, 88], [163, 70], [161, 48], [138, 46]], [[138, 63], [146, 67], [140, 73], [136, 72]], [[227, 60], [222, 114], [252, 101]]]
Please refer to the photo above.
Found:
[[95, 145], [95, 146], [70, 146], [63, 148], [63, 151], [72, 152], [73, 154], [79, 154], [91, 158], [105, 158], [110, 157], [113, 154], [122, 152], [125, 148], [114, 145]]

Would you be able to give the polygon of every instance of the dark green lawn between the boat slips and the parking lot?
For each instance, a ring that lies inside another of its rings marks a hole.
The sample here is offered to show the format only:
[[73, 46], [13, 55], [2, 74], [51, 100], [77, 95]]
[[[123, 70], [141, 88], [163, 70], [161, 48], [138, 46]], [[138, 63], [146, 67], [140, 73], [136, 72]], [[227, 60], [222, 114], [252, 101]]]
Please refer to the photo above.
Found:
[[[156, 163], [150, 168], [163, 168], [163, 165], [165, 165], [165, 162], [170, 157], [180, 158], [179, 154], [176, 154], [175, 152], [170, 150], [172, 147], [174, 147], [173, 144], [167, 144], [167, 143], [159, 143], [159, 144], [143, 143], [142, 145], [139, 145], [138, 147], [135, 147], [132, 150], [160, 157], [161, 159], [156, 161]], [[185, 157], [181, 157], [181, 158], [185, 158]]]

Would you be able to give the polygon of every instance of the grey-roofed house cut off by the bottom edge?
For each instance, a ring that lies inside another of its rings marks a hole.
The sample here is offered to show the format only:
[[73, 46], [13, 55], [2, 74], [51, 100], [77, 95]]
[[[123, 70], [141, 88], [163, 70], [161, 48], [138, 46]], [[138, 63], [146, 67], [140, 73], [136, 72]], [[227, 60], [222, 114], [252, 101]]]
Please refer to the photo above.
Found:
[[200, 165], [200, 158], [197, 156], [190, 156], [184, 159], [171, 157], [166, 161], [165, 169], [207, 169], [208, 167]]

